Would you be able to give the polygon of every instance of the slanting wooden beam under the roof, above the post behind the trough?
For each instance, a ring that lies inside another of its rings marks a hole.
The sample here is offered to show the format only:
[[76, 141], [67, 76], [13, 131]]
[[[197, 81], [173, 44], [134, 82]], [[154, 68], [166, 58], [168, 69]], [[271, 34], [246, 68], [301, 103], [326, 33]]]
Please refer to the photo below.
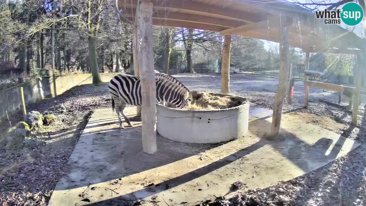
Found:
[[220, 32], [220, 36], [226, 36], [226, 35], [241, 35], [245, 32], [250, 32], [253, 30], [260, 30], [260, 29], [268, 29], [269, 26], [280, 26], [280, 25], [291, 25], [292, 19], [285, 18], [284, 21], [280, 21], [280, 19], [268, 19], [265, 21], [261, 21], [258, 23], [251, 23], [243, 26], [238, 26], [231, 29], [226, 29]]

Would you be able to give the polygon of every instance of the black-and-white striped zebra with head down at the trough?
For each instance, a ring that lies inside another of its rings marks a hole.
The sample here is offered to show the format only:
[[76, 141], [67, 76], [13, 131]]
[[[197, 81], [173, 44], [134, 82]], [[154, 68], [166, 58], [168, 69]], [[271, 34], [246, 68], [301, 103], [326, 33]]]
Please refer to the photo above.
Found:
[[[164, 73], [155, 73], [154, 75], [157, 104], [164, 101], [173, 104], [177, 108], [190, 106], [193, 98], [187, 87], [170, 75]], [[128, 74], [118, 74], [111, 79], [108, 88], [111, 94], [112, 111], [116, 109], [119, 127], [124, 129], [119, 113], [122, 114], [129, 127], [133, 126], [124, 114], [124, 108], [126, 104], [141, 106], [140, 78]]]

